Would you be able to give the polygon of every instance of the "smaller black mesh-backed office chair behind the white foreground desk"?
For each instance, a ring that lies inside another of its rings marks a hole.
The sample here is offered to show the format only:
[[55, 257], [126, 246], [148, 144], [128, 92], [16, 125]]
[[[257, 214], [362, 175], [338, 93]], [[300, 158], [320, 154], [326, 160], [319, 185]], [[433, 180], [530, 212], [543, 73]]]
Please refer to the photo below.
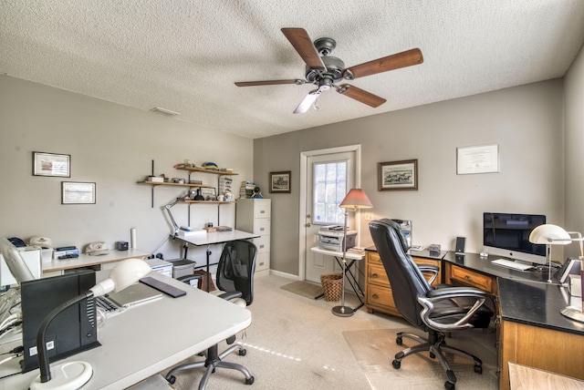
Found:
[[[255, 256], [257, 248], [252, 241], [230, 241], [224, 245], [221, 252], [221, 258], [217, 265], [217, 288], [218, 291], [211, 292], [230, 302], [242, 307], [252, 304], [254, 300], [254, 272]], [[200, 275], [185, 276], [180, 278], [183, 282], [190, 282], [192, 279], [200, 278]], [[196, 308], [194, 309], [196, 310]], [[166, 380], [173, 384], [176, 377], [173, 375], [177, 371], [188, 370], [191, 368], [206, 367], [203, 378], [199, 383], [199, 390], [203, 390], [211, 374], [216, 367], [229, 368], [240, 371], [245, 375], [245, 385], [254, 383], [254, 376], [241, 364], [224, 362], [223, 359], [235, 351], [240, 356], [246, 354], [246, 350], [241, 344], [235, 343], [235, 335], [226, 340], [227, 344], [233, 344], [223, 353], [218, 353], [218, 345], [215, 344], [206, 351], [204, 362], [186, 363], [172, 367], [166, 375]]]

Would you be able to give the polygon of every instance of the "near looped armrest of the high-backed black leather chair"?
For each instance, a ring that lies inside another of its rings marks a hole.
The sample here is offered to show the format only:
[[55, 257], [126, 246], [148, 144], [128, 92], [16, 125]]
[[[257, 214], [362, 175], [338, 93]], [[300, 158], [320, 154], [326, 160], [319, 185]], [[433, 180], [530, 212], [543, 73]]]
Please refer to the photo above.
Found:
[[[474, 313], [485, 304], [488, 296], [487, 292], [475, 289], [474, 287], [450, 287], [430, 291], [426, 296], [418, 297], [418, 302], [423, 307], [421, 313], [422, 321], [430, 328], [441, 332], [472, 328], [473, 325], [469, 321], [473, 318]], [[458, 309], [464, 313], [462, 318], [451, 323], [444, 322], [444, 317], [441, 318], [442, 322], [433, 320], [432, 315], [434, 313], [440, 313], [440, 308], [436, 308], [436, 303], [440, 303], [441, 301], [453, 302], [456, 299], [462, 298], [470, 298], [472, 302], [472, 305], [468, 308], [458, 306]]]

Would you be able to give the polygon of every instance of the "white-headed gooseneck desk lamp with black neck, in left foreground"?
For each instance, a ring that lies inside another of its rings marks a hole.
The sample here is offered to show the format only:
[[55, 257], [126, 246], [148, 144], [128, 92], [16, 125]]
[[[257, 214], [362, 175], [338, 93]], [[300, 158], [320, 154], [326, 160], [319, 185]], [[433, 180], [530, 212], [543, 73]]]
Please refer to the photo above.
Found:
[[99, 282], [91, 287], [88, 292], [79, 294], [65, 303], [57, 306], [43, 320], [36, 334], [36, 348], [38, 349], [38, 365], [40, 375], [36, 377], [30, 390], [36, 389], [78, 389], [85, 385], [93, 375], [93, 368], [88, 362], [68, 362], [58, 364], [54, 367], [55, 375], [51, 378], [51, 370], [47, 356], [47, 328], [57, 315], [69, 306], [77, 304], [84, 299], [95, 298], [109, 292], [119, 292], [135, 282], [138, 282], [144, 275], [151, 272], [151, 267], [141, 259], [128, 259], [120, 262], [110, 272], [110, 279]]

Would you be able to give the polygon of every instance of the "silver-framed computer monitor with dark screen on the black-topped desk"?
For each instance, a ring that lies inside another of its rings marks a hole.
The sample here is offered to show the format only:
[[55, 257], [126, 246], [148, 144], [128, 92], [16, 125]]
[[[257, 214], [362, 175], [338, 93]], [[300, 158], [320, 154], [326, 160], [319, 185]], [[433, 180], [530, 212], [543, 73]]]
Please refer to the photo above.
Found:
[[495, 256], [546, 264], [546, 245], [529, 242], [529, 234], [546, 223], [541, 214], [483, 213], [483, 246]]

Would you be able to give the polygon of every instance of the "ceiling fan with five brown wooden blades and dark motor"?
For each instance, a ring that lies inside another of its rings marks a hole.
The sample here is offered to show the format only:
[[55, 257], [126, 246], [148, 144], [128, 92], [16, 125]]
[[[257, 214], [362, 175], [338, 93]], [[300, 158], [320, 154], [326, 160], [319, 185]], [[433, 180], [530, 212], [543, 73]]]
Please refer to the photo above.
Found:
[[329, 56], [337, 46], [337, 42], [334, 39], [323, 37], [318, 38], [313, 43], [306, 30], [296, 27], [282, 28], [282, 33], [307, 64], [306, 79], [241, 81], [236, 82], [235, 85], [237, 87], [274, 86], [279, 84], [296, 84], [299, 86], [309, 83], [317, 86], [317, 89], [308, 92], [308, 95], [300, 102], [294, 110], [295, 114], [307, 112], [308, 108], [315, 104], [322, 92], [333, 87], [341, 95], [354, 98], [372, 108], [377, 108], [385, 103], [386, 99], [358, 87], [349, 84], [338, 85], [338, 83], [342, 80], [353, 80], [358, 77], [376, 75], [401, 67], [411, 67], [423, 62], [422, 51], [419, 48], [414, 48], [391, 56], [374, 59], [354, 67], [345, 67], [342, 60], [336, 56]]

